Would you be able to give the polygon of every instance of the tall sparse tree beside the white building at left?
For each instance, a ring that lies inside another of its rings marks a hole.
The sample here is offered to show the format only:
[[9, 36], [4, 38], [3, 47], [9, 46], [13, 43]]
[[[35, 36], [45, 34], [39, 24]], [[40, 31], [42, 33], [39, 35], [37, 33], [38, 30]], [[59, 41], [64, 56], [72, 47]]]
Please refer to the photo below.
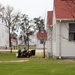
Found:
[[11, 32], [16, 29], [18, 15], [14, 16], [13, 7], [0, 5], [0, 16], [9, 29], [9, 47], [11, 47]]

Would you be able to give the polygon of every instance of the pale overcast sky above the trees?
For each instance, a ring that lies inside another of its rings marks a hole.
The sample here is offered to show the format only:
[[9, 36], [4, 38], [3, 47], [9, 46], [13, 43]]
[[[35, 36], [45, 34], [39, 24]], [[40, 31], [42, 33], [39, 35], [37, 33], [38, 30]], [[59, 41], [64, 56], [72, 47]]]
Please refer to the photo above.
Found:
[[46, 11], [53, 9], [53, 0], [0, 0], [0, 3], [14, 7], [29, 18], [45, 16]]

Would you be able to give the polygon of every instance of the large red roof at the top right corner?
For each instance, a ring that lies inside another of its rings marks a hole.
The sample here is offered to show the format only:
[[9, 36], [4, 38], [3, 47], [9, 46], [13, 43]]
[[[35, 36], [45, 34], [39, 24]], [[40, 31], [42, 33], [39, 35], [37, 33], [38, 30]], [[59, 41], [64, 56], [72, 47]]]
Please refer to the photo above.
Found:
[[75, 18], [75, 0], [54, 0], [56, 18]]

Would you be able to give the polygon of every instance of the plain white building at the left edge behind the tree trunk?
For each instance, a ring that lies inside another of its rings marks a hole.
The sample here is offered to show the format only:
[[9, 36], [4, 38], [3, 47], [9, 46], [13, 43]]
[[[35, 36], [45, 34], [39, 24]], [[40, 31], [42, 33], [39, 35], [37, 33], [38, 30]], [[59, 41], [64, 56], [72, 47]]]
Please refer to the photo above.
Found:
[[9, 28], [0, 18], [0, 48], [9, 47]]

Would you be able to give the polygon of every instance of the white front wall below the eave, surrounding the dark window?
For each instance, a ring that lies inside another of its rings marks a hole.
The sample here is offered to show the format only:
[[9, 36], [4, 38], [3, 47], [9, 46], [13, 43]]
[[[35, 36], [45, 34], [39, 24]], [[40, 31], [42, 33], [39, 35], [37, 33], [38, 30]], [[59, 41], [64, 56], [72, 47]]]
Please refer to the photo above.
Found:
[[[57, 22], [56, 32], [56, 56], [75, 57], [75, 42], [69, 41], [69, 23], [72, 22]], [[60, 28], [61, 27], [61, 31]]]

